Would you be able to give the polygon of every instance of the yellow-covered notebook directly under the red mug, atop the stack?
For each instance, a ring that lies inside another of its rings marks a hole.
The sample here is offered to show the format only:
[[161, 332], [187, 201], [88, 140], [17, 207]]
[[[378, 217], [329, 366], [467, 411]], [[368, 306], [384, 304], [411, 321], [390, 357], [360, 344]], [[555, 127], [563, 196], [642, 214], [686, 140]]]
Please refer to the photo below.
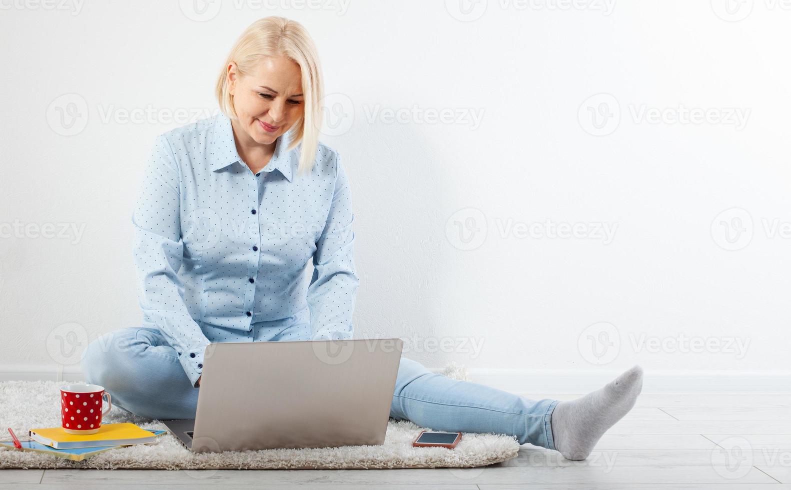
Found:
[[130, 444], [152, 443], [157, 435], [135, 424], [103, 424], [99, 432], [91, 435], [71, 435], [62, 428], [30, 429], [30, 437], [45, 446], [55, 449], [74, 449], [75, 447], [127, 446]]

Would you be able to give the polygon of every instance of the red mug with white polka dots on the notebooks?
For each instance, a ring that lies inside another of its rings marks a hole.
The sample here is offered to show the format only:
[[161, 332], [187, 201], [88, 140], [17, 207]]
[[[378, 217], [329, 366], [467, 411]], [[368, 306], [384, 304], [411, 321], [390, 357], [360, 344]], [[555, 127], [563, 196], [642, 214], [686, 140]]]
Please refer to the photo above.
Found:
[[[107, 406], [104, 405], [107, 397]], [[60, 388], [60, 419], [63, 430], [74, 435], [96, 434], [101, 419], [112, 409], [110, 394], [99, 385], [66, 385]]]

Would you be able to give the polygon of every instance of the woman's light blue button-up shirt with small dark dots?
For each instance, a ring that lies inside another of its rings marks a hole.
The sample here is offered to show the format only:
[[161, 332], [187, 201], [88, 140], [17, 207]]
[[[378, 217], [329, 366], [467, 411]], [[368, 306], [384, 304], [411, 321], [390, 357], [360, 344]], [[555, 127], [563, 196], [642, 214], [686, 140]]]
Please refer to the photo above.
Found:
[[132, 213], [138, 298], [144, 326], [176, 349], [193, 386], [206, 329], [228, 341], [249, 339], [258, 322], [301, 325], [314, 340], [352, 337], [349, 180], [321, 143], [312, 170], [297, 175], [301, 145], [287, 146], [278, 138], [254, 174], [219, 114], [161, 134], [151, 151]]

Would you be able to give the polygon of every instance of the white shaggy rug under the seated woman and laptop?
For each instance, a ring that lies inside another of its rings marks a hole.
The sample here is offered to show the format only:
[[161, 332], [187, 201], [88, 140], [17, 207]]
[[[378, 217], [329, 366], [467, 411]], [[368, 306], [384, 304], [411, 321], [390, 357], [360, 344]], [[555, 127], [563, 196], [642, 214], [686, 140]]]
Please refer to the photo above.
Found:
[[[464, 368], [451, 364], [442, 374], [467, 379]], [[59, 387], [65, 382], [0, 382], [0, 428], [27, 435], [29, 428], [60, 424]], [[165, 429], [158, 420], [132, 416], [113, 407], [108, 422], [133, 422], [146, 429]], [[171, 434], [157, 443], [121, 447], [75, 462], [49, 454], [0, 449], [0, 469], [387, 469], [465, 468], [516, 458], [519, 442], [513, 435], [464, 433], [455, 449], [412, 447], [423, 428], [408, 420], [391, 419], [381, 446], [310, 449], [267, 449], [192, 454]], [[430, 428], [426, 428], [429, 429]], [[0, 436], [0, 439], [6, 439]]]

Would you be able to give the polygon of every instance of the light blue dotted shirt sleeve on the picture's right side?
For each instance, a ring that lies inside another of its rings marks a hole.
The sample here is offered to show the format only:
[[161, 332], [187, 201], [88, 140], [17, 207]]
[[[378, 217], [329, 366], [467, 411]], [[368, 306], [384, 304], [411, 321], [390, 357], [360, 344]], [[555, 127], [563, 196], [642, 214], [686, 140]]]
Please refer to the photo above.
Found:
[[354, 213], [349, 179], [335, 155], [335, 191], [327, 224], [316, 242], [308, 307], [313, 340], [345, 340], [354, 335], [352, 315], [359, 278], [354, 266]]

